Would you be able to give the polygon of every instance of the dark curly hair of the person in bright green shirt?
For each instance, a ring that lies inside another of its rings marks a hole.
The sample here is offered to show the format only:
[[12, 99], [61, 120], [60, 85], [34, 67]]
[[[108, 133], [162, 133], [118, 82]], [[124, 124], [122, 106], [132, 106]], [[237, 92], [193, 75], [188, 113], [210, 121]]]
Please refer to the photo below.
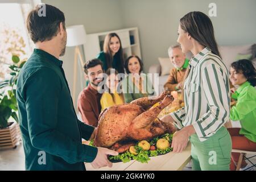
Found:
[[247, 59], [241, 59], [231, 64], [238, 73], [242, 73], [252, 86], [256, 85], [256, 69], [253, 63]]

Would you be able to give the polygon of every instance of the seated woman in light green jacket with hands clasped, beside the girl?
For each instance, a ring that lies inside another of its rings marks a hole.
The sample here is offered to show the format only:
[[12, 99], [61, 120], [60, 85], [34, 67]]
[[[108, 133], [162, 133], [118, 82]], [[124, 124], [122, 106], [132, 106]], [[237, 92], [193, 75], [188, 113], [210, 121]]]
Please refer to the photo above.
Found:
[[130, 56], [125, 61], [125, 71], [129, 75], [122, 81], [123, 97], [126, 103], [141, 97], [154, 95], [150, 78], [144, 73], [142, 60], [138, 56]]

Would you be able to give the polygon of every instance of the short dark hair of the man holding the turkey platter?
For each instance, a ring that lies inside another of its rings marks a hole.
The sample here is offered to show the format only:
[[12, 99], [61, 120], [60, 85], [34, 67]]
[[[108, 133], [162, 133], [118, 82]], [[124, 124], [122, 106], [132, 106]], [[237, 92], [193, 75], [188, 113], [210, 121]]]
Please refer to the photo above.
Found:
[[39, 14], [40, 5], [31, 10], [27, 16], [27, 30], [34, 43], [51, 40], [60, 31], [60, 23], [65, 29], [65, 16], [62, 11], [51, 5], [45, 5], [46, 16]]

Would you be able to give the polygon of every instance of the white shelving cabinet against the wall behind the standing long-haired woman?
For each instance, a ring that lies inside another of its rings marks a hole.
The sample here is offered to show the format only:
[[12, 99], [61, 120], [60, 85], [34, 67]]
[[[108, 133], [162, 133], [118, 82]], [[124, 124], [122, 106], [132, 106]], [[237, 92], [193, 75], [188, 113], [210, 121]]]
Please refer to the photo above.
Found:
[[86, 44], [84, 46], [85, 59], [86, 60], [93, 59], [98, 55], [98, 53], [103, 51], [105, 36], [113, 32], [115, 32], [121, 39], [125, 59], [130, 55], [137, 55], [141, 57], [139, 32], [138, 32], [138, 28], [134, 27], [134, 28], [121, 29], [121, 30], [113, 30], [108, 32], [101, 32], [97, 34], [87, 34]]

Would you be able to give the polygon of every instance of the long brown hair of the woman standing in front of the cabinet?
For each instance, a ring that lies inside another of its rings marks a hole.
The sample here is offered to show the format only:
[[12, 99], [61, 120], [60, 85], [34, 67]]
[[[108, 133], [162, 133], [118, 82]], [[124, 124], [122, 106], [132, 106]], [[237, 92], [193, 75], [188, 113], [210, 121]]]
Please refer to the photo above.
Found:
[[105, 36], [103, 52], [105, 53], [106, 64], [108, 65], [108, 68], [112, 68], [113, 56], [110, 51], [110, 39], [113, 38], [114, 36], [118, 38], [120, 43], [120, 48], [118, 52], [115, 53], [119, 60], [117, 71], [118, 73], [125, 73], [125, 70], [123, 69], [123, 48], [122, 48], [122, 44], [119, 36], [115, 33], [110, 33]]

